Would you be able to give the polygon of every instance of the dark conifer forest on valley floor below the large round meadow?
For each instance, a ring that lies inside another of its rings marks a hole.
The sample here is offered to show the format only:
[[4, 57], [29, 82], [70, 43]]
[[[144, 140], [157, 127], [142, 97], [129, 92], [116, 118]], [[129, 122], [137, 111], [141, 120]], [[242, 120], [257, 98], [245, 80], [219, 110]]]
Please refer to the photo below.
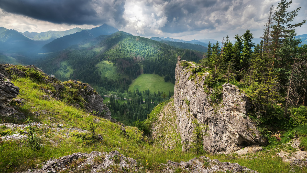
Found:
[[[133, 123], [135, 120], [145, 120], [147, 114], [150, 114], [155, 106], [168, 100], [173, 95], [174, 92], [171, 91], [167, 95], [163, 90], [152, 93], [149, 89], [140, 92], [137, 88], [134, 92], [113, 92], [106, 105], [109, 107], [112, 117], [115, 117], [116, 120]], [[126, 100], [127, 103], [120, 104], [118, 100]]]

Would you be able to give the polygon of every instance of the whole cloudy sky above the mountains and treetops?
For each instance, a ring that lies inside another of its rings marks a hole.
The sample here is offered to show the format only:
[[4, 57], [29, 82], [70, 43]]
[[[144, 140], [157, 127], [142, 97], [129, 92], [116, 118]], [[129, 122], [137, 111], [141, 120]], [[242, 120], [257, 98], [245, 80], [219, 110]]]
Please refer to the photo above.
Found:
[[[289, 1], [289, 0], [287, 0]], [[222, 41], [247, 29], [259, 38], [270, 6], [280, 0], [0, 0], [0, 27], [19, 32], [91, 29], [104, 23], [142, 37], [171, 37]], [[289, 10], [301, 7], [293, 23], [307, 20], [307, 1], [292, 0]], [[307, 33], [307, 24], [296, 29]]]

